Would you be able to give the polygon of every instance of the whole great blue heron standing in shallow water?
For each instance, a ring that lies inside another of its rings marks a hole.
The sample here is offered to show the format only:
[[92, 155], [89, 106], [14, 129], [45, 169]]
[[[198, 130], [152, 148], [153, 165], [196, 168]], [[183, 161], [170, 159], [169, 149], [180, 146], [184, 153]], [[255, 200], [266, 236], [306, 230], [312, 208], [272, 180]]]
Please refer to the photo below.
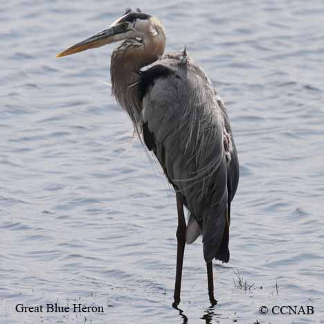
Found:
[[[127, 9], [109, 28], [57, 57], [123, 41], [111, 55], [112, 93], [131, 118], [134, 132], [155, 154], [177, 197], [172, 305], [180, 303], [185, 244], [200, 234], [208, 294], [215, 305], [212, 260], [228, 262], [230, 256], [231, 201], [239, 179], [237, 151], [222, 98], [186, 48], [163, 56], [165, 39], [158, 19]], [[188, 209], [188, 224], [183, 206]]]

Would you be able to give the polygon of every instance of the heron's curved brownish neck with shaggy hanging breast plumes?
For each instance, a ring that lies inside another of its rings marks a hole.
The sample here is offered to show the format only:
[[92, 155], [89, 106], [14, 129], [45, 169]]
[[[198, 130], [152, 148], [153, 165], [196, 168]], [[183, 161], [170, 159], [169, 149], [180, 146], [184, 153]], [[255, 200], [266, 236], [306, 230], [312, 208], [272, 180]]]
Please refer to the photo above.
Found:
[[159, 26], [156, 30], [156, 35], [148, 35], [141, 41], [125, 40], [111, 55], [112, 93], [129, 114], [136, 130], [141, 125], [142, 110], [141, 93], [137, 85], [141, 78], [140, 69], [159, 60], [165, 48], [163, 27]]

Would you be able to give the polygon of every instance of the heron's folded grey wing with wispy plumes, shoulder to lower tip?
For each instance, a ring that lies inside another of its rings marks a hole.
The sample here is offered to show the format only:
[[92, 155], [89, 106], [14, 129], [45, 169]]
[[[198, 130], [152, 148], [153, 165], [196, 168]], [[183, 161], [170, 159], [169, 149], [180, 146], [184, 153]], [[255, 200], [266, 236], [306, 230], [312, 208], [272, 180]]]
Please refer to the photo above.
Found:
[[150, 70], [142, 111], [145, 144], [201, 227], [205, 260], [227, 262], [228, 212], [237, 187], [231, 163], [237, 170], [238, 163], [226, 109], [188, 57], [169, 55]]

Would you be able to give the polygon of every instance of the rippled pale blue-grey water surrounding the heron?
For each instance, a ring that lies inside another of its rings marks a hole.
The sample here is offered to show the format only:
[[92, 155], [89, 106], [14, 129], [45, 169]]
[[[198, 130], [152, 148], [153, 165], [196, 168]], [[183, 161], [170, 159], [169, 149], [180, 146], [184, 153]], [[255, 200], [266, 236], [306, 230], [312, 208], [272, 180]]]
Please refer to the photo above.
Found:
[[[171, 307], [174, 194], [105, 84], [114, 46], [55, 59], [126, 6], [161, 19], [167, 51], [187, 46], [231, 118], [241, 178], [212, 308], [200, 240], [186, 247], [183, 313]], [[320, 0], [3, 1], [0, 323], [324, 323], [323, 16]]]

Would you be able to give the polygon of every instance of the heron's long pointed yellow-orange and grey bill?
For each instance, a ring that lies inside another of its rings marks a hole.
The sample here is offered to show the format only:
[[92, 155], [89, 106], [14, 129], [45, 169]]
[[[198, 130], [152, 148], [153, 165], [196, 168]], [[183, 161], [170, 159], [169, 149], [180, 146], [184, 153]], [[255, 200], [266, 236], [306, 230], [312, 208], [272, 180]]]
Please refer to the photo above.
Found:
[[60, 54], [57, 54], [56, 57], [71, 55], [82, 51], [86, 51], [90, 48], [97, 48], [100, 46], [111, 44], [113, 42], [118, 42], [120, 40], [125, 39], [126, 32], [127, 30], [120, 28], [120, 26], [118, 25], [111, 26], [107, 29], [100, 31], [99, 33], [96, 33], [95, 35], [88, 37], [87, 39], [84, 39], [82, 42], [67, 48], [65, 51], [61, 52]]

